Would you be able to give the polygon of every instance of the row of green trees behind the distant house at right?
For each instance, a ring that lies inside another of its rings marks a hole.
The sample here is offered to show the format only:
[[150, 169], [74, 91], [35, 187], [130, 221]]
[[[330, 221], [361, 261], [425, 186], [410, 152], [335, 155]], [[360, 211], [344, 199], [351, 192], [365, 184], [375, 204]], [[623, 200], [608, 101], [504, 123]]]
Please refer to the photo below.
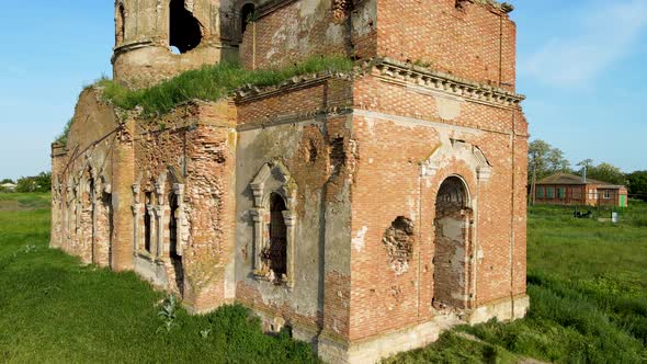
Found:
[[626, 185], [629, 197], [647, 201], [647, 170], [623, 172], [620, 168], [601, 162], [595, 164], [592, 159], [584, 159], [572, 166], [564, 157], [564, 152], [548, 143], [537, 139], [529, 145], [527, 150], [527, 178], [529, 184], [540, 181], [550, 174], [564, 172], [571, 174], [583, 173], [586, 168], [587, 178], [608, 182], [611, 184]]

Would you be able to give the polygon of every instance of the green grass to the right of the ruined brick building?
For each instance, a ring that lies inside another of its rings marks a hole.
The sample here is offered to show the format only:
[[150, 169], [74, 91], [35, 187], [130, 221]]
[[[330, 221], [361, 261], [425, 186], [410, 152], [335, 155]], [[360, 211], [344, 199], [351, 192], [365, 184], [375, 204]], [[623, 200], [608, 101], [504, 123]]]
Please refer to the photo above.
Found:
[[[483, 340], [477, 348], [492, 349], [467, 350], [474, 343], [446, 333], [444, 345], [405, 353], [394, 362], [517, 362], [509, 353], [557, 363], [647, 362], [645, 227], [647, 204], [636, 201], [615, 226], [575, 219], [570, 207], [531, 208], [527, 317], [458, 329]], [[472, 356], [455, 356], [465, 351]]]

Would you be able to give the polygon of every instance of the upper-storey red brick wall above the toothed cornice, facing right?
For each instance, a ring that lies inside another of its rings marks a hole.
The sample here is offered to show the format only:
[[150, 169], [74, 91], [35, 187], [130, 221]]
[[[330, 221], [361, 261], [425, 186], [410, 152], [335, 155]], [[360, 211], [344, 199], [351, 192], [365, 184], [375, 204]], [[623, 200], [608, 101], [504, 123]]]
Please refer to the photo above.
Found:
[[[377, 0], [377, 54], [514, 89], [515, 26], [489, 7], [455, 0]], [[502, 34], [502, 36], [501, 36]]]

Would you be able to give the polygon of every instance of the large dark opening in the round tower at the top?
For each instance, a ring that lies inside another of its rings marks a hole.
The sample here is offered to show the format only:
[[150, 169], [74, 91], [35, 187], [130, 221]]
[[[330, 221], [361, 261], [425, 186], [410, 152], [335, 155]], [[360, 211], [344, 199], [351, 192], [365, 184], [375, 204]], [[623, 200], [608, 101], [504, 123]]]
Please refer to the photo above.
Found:
[[171, 0], [169, 45], [186, 53], [200, 45], [202, 30], [197, 19], [186, 10], [183, 0]]

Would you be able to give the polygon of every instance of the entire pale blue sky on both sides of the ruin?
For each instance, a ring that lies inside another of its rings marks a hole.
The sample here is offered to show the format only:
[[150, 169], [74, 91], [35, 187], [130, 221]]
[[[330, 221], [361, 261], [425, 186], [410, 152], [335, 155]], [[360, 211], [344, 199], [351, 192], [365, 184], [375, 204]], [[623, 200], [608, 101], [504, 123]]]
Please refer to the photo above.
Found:
[[[647, 0], [509, 0], [533, 138], [574, 163], [647, 170]], [[112, 75], [113, 1], [8, 1], [0, 12], [0, 178], [49, 170], [84, 84]]]

